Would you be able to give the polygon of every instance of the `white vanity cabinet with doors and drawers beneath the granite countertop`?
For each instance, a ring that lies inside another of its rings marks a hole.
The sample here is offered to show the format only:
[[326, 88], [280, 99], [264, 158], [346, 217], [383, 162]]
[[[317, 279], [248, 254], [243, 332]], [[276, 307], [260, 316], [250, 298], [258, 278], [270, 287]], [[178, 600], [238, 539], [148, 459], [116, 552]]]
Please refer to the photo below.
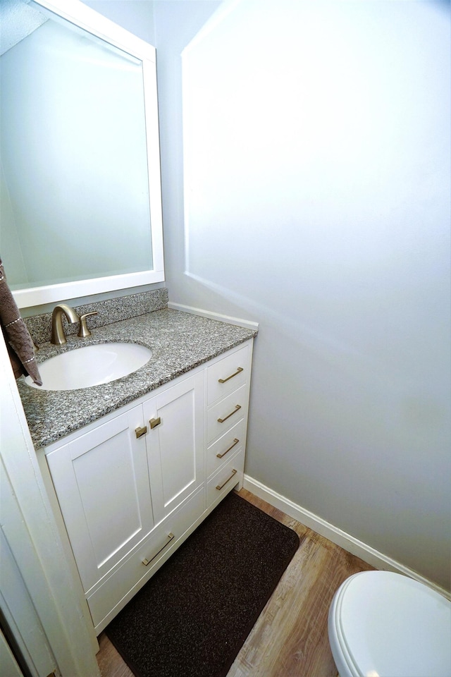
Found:
[[252, 339], [44, 449], [97, 634], [242, 486], [251, 361]]

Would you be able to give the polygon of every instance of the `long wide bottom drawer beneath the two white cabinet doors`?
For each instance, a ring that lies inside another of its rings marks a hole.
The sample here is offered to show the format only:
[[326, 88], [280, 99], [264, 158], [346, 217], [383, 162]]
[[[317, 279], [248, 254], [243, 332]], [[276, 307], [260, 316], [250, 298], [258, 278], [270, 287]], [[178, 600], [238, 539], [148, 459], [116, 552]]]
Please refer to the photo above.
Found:
[[[101, 632], [123, 606], [147, 583], [159, 566], [168, 559], [181, 537], [202, 516], [204, 492], [199, 491], [171, 513], [139, 544], [132, 555], [95, 592], [87, 597], [97, 634]], [[170, 535], [173, 535], [171, 539]], [[143, 560], [149, 560], [144, 565]]]

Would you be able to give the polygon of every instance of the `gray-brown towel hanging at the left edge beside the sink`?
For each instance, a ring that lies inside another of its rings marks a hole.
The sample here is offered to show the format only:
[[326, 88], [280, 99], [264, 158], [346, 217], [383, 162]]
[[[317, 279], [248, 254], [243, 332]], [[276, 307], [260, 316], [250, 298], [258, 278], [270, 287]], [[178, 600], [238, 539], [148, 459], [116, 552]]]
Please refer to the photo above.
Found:
[[14, 376], [30, 374], [37, 386], [42, 386], [35, 360], [35, 349], [27, 325], [20, 317], [19, 309], [13, 298], [3, 264], [0, 259], [0, 327], [3, 331], [6, 348], [13, 367]]

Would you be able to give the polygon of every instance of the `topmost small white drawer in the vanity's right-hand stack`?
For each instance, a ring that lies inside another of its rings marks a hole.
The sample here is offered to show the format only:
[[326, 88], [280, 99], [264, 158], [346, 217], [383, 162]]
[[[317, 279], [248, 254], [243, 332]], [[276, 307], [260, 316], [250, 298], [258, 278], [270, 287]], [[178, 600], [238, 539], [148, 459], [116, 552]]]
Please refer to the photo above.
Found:
[[220, 362], [208, 367], [207, 370], [207, 403], [213, 404], [249, 380], [250, 376], [250, 348], [245, 346]]

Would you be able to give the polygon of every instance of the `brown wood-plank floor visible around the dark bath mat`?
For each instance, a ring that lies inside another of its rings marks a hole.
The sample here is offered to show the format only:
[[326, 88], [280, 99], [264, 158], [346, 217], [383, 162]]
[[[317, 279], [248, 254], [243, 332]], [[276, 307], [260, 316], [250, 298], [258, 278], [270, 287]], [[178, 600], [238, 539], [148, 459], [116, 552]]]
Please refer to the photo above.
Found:
[[[240, 496], [291, 527], [302, 542], [228, 677], [336, 677], [327, 632], [330, 602], [343, 580], [373, 567], [245, 489]], [[102, 677], [133, 677], [104, 633], [99, 645]]]

